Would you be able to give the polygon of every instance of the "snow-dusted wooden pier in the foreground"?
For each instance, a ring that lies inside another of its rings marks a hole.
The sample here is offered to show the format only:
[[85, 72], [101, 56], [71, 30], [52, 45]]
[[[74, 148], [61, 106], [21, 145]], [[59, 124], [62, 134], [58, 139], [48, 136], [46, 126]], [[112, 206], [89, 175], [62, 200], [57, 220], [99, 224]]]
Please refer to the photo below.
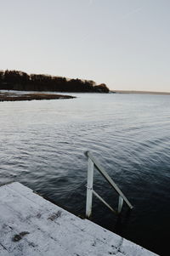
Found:
[[156, 256], [18, 182], [0, 187], [0, 255]]

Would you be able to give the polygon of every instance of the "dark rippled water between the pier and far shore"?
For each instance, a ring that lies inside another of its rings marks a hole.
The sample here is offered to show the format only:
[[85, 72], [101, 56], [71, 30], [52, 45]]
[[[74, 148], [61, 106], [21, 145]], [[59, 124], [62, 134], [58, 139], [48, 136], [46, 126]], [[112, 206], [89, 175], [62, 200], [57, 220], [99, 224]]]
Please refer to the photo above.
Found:
[[[17, 180], [84, 215], [87, 159], [97, 156], [132, 202], [122, 218], [94, 199], [93, 220], [161, 255], [170, 230], [170, 96], [76, 94], [0, 103], [0, 182]], [[114, 207], [115, 191], [95, 173]]]

